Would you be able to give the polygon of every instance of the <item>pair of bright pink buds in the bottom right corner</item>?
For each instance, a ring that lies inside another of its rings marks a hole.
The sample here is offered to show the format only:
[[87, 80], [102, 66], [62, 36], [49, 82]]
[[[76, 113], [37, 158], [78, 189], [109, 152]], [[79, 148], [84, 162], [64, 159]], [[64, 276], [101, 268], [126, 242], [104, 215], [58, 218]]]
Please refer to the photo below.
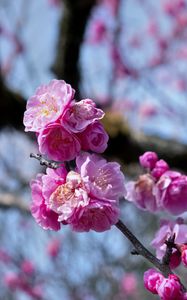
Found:
[[162, 300], [185, 300], [187, 293], [184, 293], [178, 276], [170, 274], [165, 278], [154, 269], [144, 273], [145, 288], [152, 294], [157, 294]]

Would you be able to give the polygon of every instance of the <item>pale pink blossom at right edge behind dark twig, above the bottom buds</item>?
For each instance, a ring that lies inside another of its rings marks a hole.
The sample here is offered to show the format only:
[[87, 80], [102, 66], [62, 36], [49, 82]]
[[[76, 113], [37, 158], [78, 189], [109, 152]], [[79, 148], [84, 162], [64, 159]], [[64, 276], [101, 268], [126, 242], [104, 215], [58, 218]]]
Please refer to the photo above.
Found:
[[166, 251], [165, 241], [175, 234], [175, 243], [183, 244], [187, 242], [187, 225], [183, 224], [183, 219], [178, 218], [176, 221], [162, 220], [161, 227], [156, 232], [155, 238], [151, 242], [156, 249], [156, 256], [161, 259]]

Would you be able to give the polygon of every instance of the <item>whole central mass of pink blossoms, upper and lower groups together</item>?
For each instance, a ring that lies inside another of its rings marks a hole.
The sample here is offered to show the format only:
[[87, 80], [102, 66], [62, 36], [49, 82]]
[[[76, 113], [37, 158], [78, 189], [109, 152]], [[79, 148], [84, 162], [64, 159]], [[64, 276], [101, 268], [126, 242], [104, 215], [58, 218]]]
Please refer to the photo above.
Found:
[[[37, 135], [39, 151], [62, 162], [31, 181], [31, 212], [44, 229], [69, 224], [75, 231], [105, 231], [118, 221], [124, 175], [116, 162], [95, 153], [107, 147], [108, 135], [99, 122], [104, 112], [91, 99], [74, 100], [63, 80], [39, 87], [28, 100], [26, 131]], [[74, 168], [67, 162], [74, 160]]]

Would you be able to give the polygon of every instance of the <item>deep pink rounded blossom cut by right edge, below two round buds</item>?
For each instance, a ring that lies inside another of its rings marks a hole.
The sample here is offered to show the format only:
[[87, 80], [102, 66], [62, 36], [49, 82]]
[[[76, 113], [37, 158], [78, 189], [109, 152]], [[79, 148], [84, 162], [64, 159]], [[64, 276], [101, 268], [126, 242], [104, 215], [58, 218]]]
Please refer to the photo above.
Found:
[[156, 184], [158, 203], [173, 215], [187, 210], [187, 176], [167, 171]]

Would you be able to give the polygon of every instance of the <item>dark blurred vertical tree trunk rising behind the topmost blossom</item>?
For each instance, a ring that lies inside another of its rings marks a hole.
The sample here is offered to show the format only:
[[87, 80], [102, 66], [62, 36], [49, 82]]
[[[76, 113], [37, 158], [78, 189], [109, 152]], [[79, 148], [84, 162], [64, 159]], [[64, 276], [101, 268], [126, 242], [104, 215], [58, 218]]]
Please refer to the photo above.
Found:
[[[64, 0], [57, 55], [53, 71], [79, 94], [81, 44], [90, 12], [96, 0]], [[76, 94], [76, 96], [77, 96]]]

